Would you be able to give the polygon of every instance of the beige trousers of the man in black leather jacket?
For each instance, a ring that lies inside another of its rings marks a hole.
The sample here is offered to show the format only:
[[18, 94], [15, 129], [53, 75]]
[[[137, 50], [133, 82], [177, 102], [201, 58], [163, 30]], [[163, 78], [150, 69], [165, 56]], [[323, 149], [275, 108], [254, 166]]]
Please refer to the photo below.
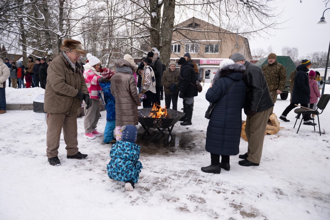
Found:
[[254, 116], [247, 116], [245, 133], [248, 139], [248, 161], [260, 164], [262, 148], [269, 113], [272, 108], [256, 113]]

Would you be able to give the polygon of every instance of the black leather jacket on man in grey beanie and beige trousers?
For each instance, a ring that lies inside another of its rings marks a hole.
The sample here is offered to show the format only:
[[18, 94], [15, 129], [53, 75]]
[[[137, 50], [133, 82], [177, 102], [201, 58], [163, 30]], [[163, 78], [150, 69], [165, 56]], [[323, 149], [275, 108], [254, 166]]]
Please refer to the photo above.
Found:
[[248, 61], [245, 61], [244, 66], [246, 71], [243, 79], [247, 90], [244, 110], [261, 112], [272, 108], [274, 103], [261, 69]]

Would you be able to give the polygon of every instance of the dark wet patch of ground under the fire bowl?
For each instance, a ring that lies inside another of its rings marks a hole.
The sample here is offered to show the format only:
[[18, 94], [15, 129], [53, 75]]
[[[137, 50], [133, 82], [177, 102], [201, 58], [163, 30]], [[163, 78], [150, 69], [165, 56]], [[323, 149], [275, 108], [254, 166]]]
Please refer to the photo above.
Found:
[[[140, 126], [138, 130], [138, 136], [136, 143], [141, 146], [142, 154], [176, 154], [179, 152], [197, 152], [205, 150], [205, 137], [206, 131], [194, 130], [192, 126], [187, 126], [186, 131], [176, 132], [176, 126], [181, 126], [176, 124], [172, 130], [173, 139], [170, 137], [167, 143], [164, 143], [167, 135], [169, 134], [166, 129], [163, 133], [165, 135], [160, 135], [156, 139], [152, 139], [159, 131], [156, 128], [149, 128], [150, 134], [144, 133], [144, 128]], [[148, 142], [150, 141], [150, 142]]]

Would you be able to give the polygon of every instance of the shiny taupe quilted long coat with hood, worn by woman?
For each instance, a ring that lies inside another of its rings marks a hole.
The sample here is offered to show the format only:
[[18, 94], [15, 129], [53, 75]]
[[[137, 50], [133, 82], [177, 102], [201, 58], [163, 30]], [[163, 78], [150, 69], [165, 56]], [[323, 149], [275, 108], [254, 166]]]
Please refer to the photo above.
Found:
[[[129, 67], [124, 59], [115, 62], [116, 67]], [[111, 77], [111, 93], [116, 101], [116, 125], [137, 125], [140, 99], [133, 74], [116, 72]]]

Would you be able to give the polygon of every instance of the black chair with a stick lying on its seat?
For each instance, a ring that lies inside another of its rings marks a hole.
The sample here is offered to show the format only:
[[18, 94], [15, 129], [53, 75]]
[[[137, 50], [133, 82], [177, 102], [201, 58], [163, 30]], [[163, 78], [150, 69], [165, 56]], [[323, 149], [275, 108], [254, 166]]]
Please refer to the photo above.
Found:
[[[295, 113], [297, 113], [297, 114], [301, 113], [302, 114], [301, 115], [302, 116], [301, 121], [300, 121], [300, 124], [299, 124], [299, 127], [298, 127], [298, 131], [299, 131], [301, 123], [303, 122], [304, 115], [305, 114], [315, 114], [315, 115], [317, 115], [318, 129], [320, 131], [320, 136], [321, 136], [320, 119], [318, 118], [318, 115], [322, 114], [322, 112], [325, 109], [325, 107], [327, 106], [329, 100], [330, 100], [330, 94], [324, 94], [324, 95], [321, 96], [320, 100], [318, 101], [318, 103], [316, 105], [316, 107], [317, 107], [316, 110], [310, 110], [310, 109], [305, 109], [305, 108], [295, 109], [294, 110]], [[322, 110], [322, 111], [319, 112], [318, 110]], [[298, 120], [298, 117], [296, 119], [296, 123], [297, 123], [297, 120]], [[294, 123], [293, 128], [296, 126], [296, 123]], [[313, 123], [314, 123], [314, 116], [313, 116]], [[298, 134], [298, 131], [297, 131], [297, 134]], [[315, 131], [315, 125], [314, 125], [314, 131]]]

